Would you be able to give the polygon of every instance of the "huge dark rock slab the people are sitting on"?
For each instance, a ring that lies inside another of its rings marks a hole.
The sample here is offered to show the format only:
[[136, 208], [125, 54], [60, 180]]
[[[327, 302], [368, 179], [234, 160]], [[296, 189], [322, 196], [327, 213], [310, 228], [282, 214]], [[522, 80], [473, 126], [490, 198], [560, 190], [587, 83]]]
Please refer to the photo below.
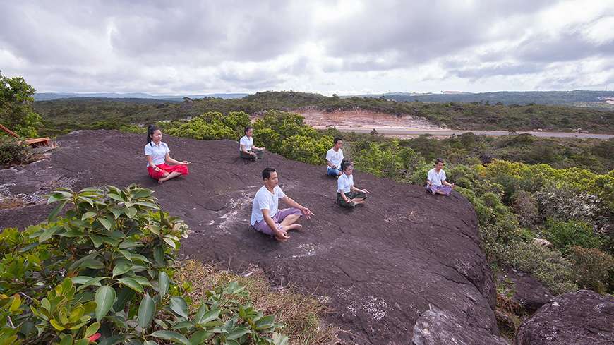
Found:
[[[237, 271], [255, 264], [274, 285], [327, 296], [334, 310], [328, 321], [345, 331], [340, 334], [344, 344], [411, 344], [412, 339], [422, 341], [416, 344], [477, 344], [471, 339], [503, 344], [476, 214], [458, 193], [435, 197], [419, 186], [357, 172], [356, 186], [372, 194], [364, 207], [342, 210], [335, 205], [336, 181], [325, 176], [325, 167], [270, 152], [258, 162], [244, 162], [231, 140], [163, 140], [171, 157], [193, 162], [189, 176], [162, 185], [149, 178], [143, 135], [77, 131], [58, 138], [59, 148], [49, 159], [1, 170], [0, 192], [43, 200], [59, 186], [78, 190], [138, 183], [155, 190], [164, 210], [193, 230], [183, 241], [184, 257], [224, 262]], [[267, 166], [277, 169], [280, 186], [291, 198], [315, 213], [311, 220], [301, 219], [303, 230], [292, 231], [285, 243], [248, 226], [251, 198]], [[50, 209], [40, 202], [0, 210], [0, 228], [42, 222]], [[423, 329], [464, 340], [426, 340]]]

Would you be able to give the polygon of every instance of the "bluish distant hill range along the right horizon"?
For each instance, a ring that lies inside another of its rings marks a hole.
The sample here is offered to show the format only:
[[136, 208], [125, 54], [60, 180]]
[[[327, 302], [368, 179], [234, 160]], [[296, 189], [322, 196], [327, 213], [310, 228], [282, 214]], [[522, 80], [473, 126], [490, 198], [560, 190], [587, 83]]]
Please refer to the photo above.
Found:
[[[500, 91], [482, 93], [442, 93], [442, 94], [415, 94], [407, 92], [394, 92], [378, 95], [361, 95], [359, 97], [372, 97], [390, 99], [392, 101], [420, 101], [420, 102], [481, 102], [490, 104], [573, 104], [573, 103], [603, 103], [607, 97], [614, 97], [614, 91]], [[590, 105], [590, 104], [585, 104]]]

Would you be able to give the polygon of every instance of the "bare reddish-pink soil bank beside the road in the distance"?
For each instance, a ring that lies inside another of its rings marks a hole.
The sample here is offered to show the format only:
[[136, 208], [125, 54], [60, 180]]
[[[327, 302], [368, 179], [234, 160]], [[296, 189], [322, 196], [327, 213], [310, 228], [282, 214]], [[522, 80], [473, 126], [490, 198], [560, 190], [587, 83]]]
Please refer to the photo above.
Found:
[[335, 126], [337, 129], [375, 128], [442, 130], [433, 123], [411, 115], [392, 115], [364, 109], [321, 111], [318, 109], [296, 109], [297, 114], [305, 117], [305, 122], [313, 128], [324, 129]]

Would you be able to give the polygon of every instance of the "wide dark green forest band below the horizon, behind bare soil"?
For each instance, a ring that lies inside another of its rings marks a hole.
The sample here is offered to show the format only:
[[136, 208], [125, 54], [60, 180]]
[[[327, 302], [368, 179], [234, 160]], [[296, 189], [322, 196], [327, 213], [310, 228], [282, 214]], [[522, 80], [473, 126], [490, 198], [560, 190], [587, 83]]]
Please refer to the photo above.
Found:
[[503, 105], [473, 103], [393, 102], [383, 98], [323, 95], [305, 92], [258, 92], [241, 99], [207, 97], [181, 103], [126, 102], [108, 99], [58, 99], [35, 102], [44, 119], [44, 134], [59, 134], [72, 128], [114, 129], [152, 121], [188, 119], [207, 111], [320, 109], [322, 111], [366, 109], [397, 116], [416, 116], [438, 126], [471, 131], [588, 131], [613, 133], [614, 111], [538, 104]]

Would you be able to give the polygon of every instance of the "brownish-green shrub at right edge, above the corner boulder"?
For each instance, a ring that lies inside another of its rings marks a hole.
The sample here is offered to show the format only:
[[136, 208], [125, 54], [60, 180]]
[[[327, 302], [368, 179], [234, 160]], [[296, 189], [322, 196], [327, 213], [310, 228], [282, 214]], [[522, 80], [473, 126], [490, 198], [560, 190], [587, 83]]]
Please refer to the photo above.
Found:
[[591, 289], [598, 293], [606, 291], [606, 284], [610, 278], [610, 272], [614, 270], [614, 258], [608, 253], [603, 253], [597, 248], [582, 248], [572, 246], [569, 259], [576, 267], [575, 277], [579, 286]]

